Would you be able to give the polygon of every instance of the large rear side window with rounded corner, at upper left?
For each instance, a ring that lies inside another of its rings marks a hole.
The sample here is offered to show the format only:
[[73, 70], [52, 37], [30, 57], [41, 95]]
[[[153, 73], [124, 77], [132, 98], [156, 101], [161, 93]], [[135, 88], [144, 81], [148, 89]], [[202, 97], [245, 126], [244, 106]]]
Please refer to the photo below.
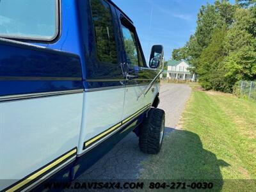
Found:
[[53, 40], [57, 35], [57, 0], [0, 1], [0, 36]]

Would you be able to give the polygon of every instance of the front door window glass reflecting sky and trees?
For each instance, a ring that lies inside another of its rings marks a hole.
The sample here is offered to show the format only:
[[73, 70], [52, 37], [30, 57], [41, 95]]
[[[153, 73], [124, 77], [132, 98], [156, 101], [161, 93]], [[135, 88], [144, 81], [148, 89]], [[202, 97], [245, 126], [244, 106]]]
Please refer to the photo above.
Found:
[[132, 31], [122, 25], [122, 31], [124, 36], [124, 46], [127, 56], [127, 62], [135, 67], [138, 67], [138, 52], [136, 47], [135, 35]]

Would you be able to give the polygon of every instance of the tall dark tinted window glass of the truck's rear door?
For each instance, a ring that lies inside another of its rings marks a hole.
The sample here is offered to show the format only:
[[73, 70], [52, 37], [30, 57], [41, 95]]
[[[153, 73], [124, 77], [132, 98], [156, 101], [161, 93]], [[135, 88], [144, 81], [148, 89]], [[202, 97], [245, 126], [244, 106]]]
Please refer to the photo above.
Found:
[[100, 61], [117, 63], [117, 51], [111, 8], [103, 0], [91, 0], [97, 56]]

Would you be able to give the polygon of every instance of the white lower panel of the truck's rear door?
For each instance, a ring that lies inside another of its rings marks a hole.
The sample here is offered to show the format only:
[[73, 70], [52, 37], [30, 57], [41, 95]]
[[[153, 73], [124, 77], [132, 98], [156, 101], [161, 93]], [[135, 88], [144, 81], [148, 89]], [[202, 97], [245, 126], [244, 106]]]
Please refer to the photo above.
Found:
[[122, 120], [125, 88], [84, 93], [83, 122], [78, 154], [84, 142], [106, 131]]

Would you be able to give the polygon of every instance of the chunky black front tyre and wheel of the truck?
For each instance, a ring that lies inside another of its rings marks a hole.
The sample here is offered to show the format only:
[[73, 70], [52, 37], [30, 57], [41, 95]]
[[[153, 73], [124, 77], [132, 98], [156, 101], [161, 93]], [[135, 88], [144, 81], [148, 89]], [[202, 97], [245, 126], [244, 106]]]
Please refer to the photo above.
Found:
[[165, 114], [162, 109], [151, 108], [140, 126], [140, 150], [146, 154], [158, 154], [164, 137]]

